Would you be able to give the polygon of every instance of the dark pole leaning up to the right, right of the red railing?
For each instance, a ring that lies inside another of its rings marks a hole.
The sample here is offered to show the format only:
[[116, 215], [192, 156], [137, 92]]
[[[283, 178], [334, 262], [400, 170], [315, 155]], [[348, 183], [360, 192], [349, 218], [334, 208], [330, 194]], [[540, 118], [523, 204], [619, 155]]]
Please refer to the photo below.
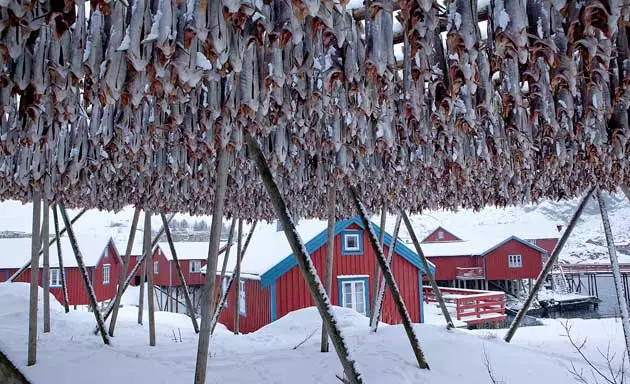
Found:
[[523, 303], [523, 307], [518, 311], [518, 313], [516, 314], [516, 317], [514, 318], [514, 321], [512, 321], [512, 324], [510, 325], [510, 329], [508, 329], [507, 333], [505, 334], [504, 340], [506, 342], [509, 343], [514, 337], [514, 334], [516, 333], [516, 329], [521, 324], [523, 317], [525, 317], [525, 314], [529, 310], [529, 306], [532, 304], [532, 301], [534, 301], [534, 298], [538, 294], [540, 287], [542, 287], [545, 279], [547, 278], [547, 275], [549, 275], [549, 272], [551, 272], [551, 270], [553, 269], [553, 266], [558, 260], [558, 256], [560, 255], [560, 252], [562, 251], [564, 244], [567, 242], [569, 236], [571, 235], [571, 232], [573, 232], [573, 228], [575, 228], [575, 225], [577, 224], [578, 219], [580, 218], [580, 216], [582, 216], [582, 211], [584, 211], [584, 207], [586, 207], [588, 200], [591, 198], [591, 196], [593, 196], [593, 191], [594, 191], [594, 188], [591, 188], [586, 193], [586, 196], [584, 196], [584, 198], [578, 205], [577, 209], [575, 210], [575, 213], [573, 214], [571, 221], [569, 221], [569, 225], [567, 225], [567, 229], [564, 230], [562, 237], [560, 237], [560, 241], [558, 241], [558, 243], [553, 249], [553, 252], [551, 252], [551, 256], [549, 256], [549, 259], [547, 260], [545, 267], [543, 268], [542, 271], [540, 271], [540, 274], [536, 278], [536, 282], [534, 283], [532, 290], [527, 295], [527, 299], [525, 300], [525, 303]]

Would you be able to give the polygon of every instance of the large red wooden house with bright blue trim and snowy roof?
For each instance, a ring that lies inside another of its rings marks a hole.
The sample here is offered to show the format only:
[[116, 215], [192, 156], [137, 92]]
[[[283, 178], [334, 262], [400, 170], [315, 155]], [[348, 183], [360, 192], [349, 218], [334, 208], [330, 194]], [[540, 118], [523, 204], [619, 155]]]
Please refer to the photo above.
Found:
[[[380, 229], [375, 224], [372, 225], [379, 233]], [[324, 276], [326, 228], [327, 223], [318, 220], [304, 220], [297, 226], [320, 276]], [[386, 233], [386, 253], [391, 246], [392, 238]], [[392, 270], [403, 300], [412, 321], [422, 322], [421, 282], [424, 271], [420, 260], [416, 253], [400, 241], [396, 242], [394, 250]], [[375, 278], [375, 260], [367, 231], [358, 217], [335, 224], [333, 289], [330, 296], [333, 305], [353, 308], [369, 316], [372, 310], [371, 286]], [[235, 256], [232, 254], [228, 260], [228, 271], [233, 270], [234, 263]], [[242, 264], [242, 294], [239, 299], [239, 324], [242, 332], [255, 331], [291, 311], [314, 305], [296, 263], [284, 232], [277, 224], [259, 224], [256, 227]], [[222, 257], [219, 258], [219, 268], [221, 264]], [[205, 268], [203, 271], [205, 272]], [[228, 293], [227, 308], [222, 311], [219, 319], [229, 329], [232, 329], [234, 323], [234, 290], [235, 285]], [[400, 321], [389, 292], [385, 296], [382, 321], [390, 324]]]

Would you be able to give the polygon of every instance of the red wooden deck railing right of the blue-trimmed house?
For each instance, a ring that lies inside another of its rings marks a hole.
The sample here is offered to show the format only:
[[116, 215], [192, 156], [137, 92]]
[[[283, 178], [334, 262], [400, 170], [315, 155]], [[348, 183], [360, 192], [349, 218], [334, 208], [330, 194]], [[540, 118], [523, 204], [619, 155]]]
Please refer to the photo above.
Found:
[[[425, 302], [436, 302], [433, 289], [423, 286]], [[474, 289], [440, 288], [444, 301], [455, 304], [457, 320], [468, 324], [505, 318], [505, 293]], [[475, 321], [477, 319], [477, 321]]]

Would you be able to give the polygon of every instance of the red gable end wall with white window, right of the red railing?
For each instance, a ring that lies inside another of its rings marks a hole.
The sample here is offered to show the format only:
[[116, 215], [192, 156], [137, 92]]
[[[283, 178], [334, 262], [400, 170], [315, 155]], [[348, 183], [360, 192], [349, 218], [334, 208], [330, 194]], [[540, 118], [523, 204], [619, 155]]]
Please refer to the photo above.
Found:
[[[519, 254], [521, 268], [508, 267], [508, 255]], [[488, 280], [535, 279], [542, 270], [542, 255], [535, 249], [516, 240], [510, 240], [486, 254], [486, 276]]]

